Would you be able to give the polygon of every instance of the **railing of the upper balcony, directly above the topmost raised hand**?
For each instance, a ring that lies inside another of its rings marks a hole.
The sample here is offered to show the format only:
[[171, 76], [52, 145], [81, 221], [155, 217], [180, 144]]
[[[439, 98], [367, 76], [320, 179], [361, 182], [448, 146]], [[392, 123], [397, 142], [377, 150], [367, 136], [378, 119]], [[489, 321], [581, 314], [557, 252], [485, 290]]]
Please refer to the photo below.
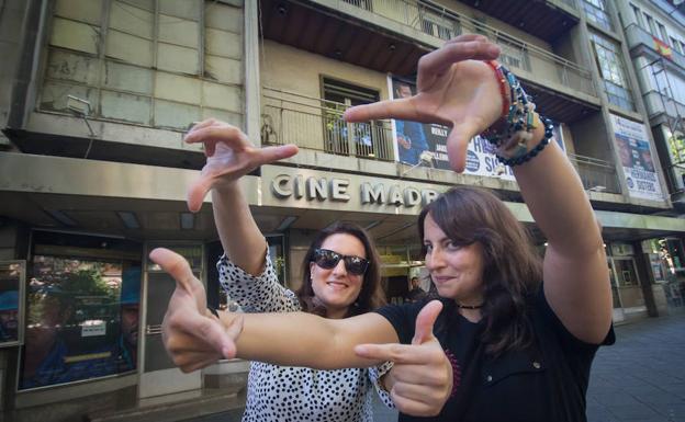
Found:
[[[503, 62], [510, 68], [534, 73], [536, 82], [552, 82], [597, 96], [589, 70], [450, 9], [409, 0], [343, 1], [433, 36], [436, 46], [440, 45], [440, 39], [449, 39], [462, 33], [483, 34], [502, 47]], [[574, 1], [564, 3], [575, 8]]]

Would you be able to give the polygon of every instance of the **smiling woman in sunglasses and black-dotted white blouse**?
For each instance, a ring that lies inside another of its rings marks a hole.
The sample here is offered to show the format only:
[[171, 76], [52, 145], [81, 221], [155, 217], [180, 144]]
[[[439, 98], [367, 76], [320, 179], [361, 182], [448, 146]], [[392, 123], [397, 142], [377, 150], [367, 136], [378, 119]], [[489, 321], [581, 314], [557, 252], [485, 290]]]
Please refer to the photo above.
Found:
[[[214, 119], [196, 124], [186, 141], [203, 142], [207, 152], [201, 178], [189, 191], [189, 208], [200, 209], [211, 190], [215, 224], [225, 252], [217, 263], [220, 283], [246, 312], [305, 311], [340, 319], [384, 305], [374, 246], [362, 228], [351, 224], [334, 224], [317, 233], [304, 256], [302, 284], [295, 293], [279, 283], [267, 241], [238, 181], [262, 162], [292, 156], [296, 147], [256, 149], [238, 129]], [[178, 294], [177, 290], [175, 297]], [[206, 353], [203, 349], [203, 324], [216, 321], [212, 313], [218, 313], [214, 309], [204, 312], [201, 285], [194, 294], [202, 300], [202, 313], [179, 316], [170, 308], [164, 322], [167, 350], [184, 372], [221, 357], [221, 352]], [[183, 327], [177, 332], [173, 321], [179, 319]], [[181, 332], [189, 341], [179, 341]], [[243, 421], [277, 421], [288, 417], [294, 421], [371, 422], [371, 395], [378, 369], [323, 372], [252, 362]], [[388, 368], [380, 369], [384, 373]], [[381, 394], [390, 402], [388, 395]]]

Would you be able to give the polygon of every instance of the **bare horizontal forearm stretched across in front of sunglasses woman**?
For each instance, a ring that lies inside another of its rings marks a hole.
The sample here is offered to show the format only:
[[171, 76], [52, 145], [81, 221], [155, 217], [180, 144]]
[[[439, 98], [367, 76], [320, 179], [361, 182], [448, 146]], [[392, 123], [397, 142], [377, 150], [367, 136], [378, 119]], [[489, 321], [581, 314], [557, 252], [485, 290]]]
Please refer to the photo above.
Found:
[[[222, 322], [227, 326], [235, 316], [222, 312]], [[397, 341], [390, 323], [377, 313], [339, 320], [305, 312], [240, 316], [244, 326], [236, 343], [237, 357], [274, 365], [316, 369], [368, 367], [378, 362], [357, 356], [357, 344]]]

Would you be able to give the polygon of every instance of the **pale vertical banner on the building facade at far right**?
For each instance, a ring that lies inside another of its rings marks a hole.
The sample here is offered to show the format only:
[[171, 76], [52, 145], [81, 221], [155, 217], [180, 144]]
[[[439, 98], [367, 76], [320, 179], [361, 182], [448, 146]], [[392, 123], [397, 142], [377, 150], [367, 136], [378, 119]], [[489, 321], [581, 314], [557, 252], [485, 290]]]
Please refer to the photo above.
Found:
[[663, 201], [644, 125], [614, 114], [611, 114], [611, 124], [614, 125], [614, 141], [630, 196]]

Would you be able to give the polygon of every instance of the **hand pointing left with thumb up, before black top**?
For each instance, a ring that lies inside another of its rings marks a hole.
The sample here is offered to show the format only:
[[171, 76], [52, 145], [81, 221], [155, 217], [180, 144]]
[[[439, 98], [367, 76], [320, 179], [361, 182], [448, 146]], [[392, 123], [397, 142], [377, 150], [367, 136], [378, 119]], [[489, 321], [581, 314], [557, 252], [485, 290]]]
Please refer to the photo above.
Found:
[[433, 326], [441, 309], [442, 304], [433, 300], [420, 310], [412, 344], [361, 344], [355, 347], [359, 356], [394, 363], [383, 384], [402, 413], [435, 417], [452, 391], [452, 365], [433, 335]]

